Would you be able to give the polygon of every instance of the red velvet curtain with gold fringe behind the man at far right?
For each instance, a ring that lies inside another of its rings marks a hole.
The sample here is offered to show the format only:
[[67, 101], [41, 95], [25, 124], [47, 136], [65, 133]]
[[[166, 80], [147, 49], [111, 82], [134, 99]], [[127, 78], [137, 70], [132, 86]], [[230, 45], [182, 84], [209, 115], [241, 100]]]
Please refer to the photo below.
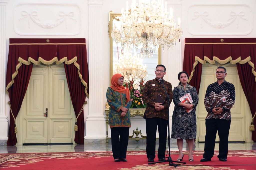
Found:
[[[240, 82], [253, 116], [256, 110], [256, 38], [185, 38], [183, 70], [190, 75], [189, 84], [195, 86], [197, 92], [202, 64], [214, 64], [215, 61], [237, 64]], [[252, 140], [256, 141], [255, 132], [252, 133]]]

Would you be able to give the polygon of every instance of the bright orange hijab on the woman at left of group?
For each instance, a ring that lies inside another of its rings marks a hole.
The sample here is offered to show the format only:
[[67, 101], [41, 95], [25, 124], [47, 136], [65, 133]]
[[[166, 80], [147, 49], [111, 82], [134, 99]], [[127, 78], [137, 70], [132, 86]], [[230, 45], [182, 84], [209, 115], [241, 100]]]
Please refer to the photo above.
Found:
[[115, 91], [118, 91], [119, 93], [126, 94], [126, 103], [128, 103], [130, 101], [130, 90], [129, 88], [124, 87], [123, 85], [118, 85], [117, 81], [120, 77], [123, 77], [123, 75], [118, 73], [112, 76], [110, 88], [112, 88]]

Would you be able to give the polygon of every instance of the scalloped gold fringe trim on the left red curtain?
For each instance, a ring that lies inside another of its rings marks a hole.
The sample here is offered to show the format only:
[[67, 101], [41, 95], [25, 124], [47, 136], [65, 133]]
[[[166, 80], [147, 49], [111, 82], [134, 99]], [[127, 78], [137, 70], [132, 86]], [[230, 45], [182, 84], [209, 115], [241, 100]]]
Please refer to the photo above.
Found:
[[81, 79], [81, 82], [82, 84], [84, 85], [84, 93], [86, 94], [86, 96], [89, 98], [89, 94], [87, 93], [87, 83], [83, 80], [83, 77], [82, 77], [82, 74], [80, 73], [80, 66], [79, 64], [77, 63], [77, 57], [75, 56], [74, 58], [72, 58], [71, 60], [68, 60], [67, 57], [63, 57], [62, 59], [58, 60], [58, 57], [54, 57], [53, 59], [47, 61], [47, 60], [44, 60], [43, 58], [39, 57], [38, 58], [38, 61], [34, 60], [33, 58], [31, 57], [28, 57], [28, 61], [22, 59], [22, 58], [18, 58], [18, 61], [19, 63], [17, 64], [16, 66], [16, 71], [12, 74], [12, 81], [8, 83], [8, 85], [6, 86], [6, 93], [9, 95], [8, 93], [8, 89], [13, 85], [14, 83], [14, 78], [18, 75], [18, 69], [20, 68], [20, 66], [22, 66], [22, 64], [25, 64], [25, 65], [29, 65], [31, 63], [35, 64], [35, 65], [39, 65], [41, 63], [43, 64], [46, 64], [46, 65], [50, 65], [52, 63], [56, 63], [56, 64], [61, 64], [63, 62], [65, 62], [65, 64], [74, 64], [76, 66], [76, 68], [78, 69], [78, 75], [79, 75], [79, 78]]

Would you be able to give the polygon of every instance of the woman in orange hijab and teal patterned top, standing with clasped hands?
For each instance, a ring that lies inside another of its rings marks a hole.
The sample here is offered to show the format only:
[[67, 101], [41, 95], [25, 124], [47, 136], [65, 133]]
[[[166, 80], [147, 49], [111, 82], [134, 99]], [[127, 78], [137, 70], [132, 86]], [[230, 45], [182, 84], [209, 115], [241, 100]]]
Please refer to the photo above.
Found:
[[[109, 108], [109, 126], [111, 129], [111, 145], [115, 162], [126, 162], [126, 150], [129, 140], [129, 128], [131, 127], [130, 90], [123, 86], [124, 76], [114, 74], [111, 78], [111, 86], [106, 97]], [[120, 141], [119, 141], [120, 137]]]

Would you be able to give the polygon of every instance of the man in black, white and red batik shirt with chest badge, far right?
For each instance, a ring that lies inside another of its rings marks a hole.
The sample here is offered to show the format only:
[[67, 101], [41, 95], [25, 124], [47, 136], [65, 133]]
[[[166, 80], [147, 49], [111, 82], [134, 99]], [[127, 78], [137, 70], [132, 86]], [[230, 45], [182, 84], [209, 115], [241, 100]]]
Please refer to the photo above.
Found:
[[205, 153], [201, 162], [211, 161], [214, 155], [216, 133], [218, 131], [220, 144], [220, 161], [227, 161], [228, 157], [228, 134], [231, 123], [230, 109], [235, 103], [235, 87], [225, 80], [227, 70], [218, 67], [216, 70], [217, 82], [207, 87], [205, 94], [205, 108], [208, 112], [205, 118]]

